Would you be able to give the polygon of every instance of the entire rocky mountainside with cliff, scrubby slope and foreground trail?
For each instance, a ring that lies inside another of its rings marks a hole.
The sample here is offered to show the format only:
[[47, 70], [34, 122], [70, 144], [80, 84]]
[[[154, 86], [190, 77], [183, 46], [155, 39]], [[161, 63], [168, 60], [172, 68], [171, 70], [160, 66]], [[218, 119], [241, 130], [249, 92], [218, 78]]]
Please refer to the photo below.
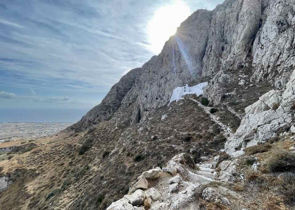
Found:
[[1, 209], [295, 209], [294, 36], [295, 0], [195, 11], [79, 122], [1, 150]]

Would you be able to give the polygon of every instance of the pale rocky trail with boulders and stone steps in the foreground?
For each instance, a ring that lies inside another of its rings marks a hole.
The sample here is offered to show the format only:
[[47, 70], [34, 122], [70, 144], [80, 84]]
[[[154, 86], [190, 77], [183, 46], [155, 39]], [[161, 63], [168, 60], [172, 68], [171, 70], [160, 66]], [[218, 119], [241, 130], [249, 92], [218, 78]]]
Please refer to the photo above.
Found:
[[216, 172], [211, 169], [214, 159], [196, 164], [196, 169], [188, 167], [186, 162], [182, 153], [173, 157], [167, 168], [145, 171], [129, 194], [112, 203], [108, 210], [123, 209], [123, 206], [130, 210], [199, 209], [195, 194], [200, 186], [215, 180]]

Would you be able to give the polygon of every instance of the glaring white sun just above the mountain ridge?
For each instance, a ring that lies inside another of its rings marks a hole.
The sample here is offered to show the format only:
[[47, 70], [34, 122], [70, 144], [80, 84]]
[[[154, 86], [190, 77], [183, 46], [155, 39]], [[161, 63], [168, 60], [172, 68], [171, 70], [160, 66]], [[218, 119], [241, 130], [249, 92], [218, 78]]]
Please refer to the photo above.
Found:
[[177, 27], [190, 15], [191, 9], [180, 0], [157, 9], [148, 24], [148, 37], [151, 43], [149, 50], [159, 54], [165, 42], [176, 33]]

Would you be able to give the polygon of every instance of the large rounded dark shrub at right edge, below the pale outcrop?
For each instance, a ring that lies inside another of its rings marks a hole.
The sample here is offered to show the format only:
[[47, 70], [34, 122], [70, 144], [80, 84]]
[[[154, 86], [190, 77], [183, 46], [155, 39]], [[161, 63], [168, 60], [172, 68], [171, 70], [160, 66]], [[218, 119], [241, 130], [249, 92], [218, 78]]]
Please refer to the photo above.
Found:
[[295, 153], [276, 152], [267, 162], [266, 168], [269, 172], [295, 171]]

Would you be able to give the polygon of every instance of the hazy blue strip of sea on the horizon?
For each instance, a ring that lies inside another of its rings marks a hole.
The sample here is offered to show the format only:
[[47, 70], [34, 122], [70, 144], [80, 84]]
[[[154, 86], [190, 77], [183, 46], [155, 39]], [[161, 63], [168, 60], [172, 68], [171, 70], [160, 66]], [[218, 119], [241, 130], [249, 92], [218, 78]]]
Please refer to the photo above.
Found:
[[89, 109], [0, 108], [0, 122], [77, 122]]

